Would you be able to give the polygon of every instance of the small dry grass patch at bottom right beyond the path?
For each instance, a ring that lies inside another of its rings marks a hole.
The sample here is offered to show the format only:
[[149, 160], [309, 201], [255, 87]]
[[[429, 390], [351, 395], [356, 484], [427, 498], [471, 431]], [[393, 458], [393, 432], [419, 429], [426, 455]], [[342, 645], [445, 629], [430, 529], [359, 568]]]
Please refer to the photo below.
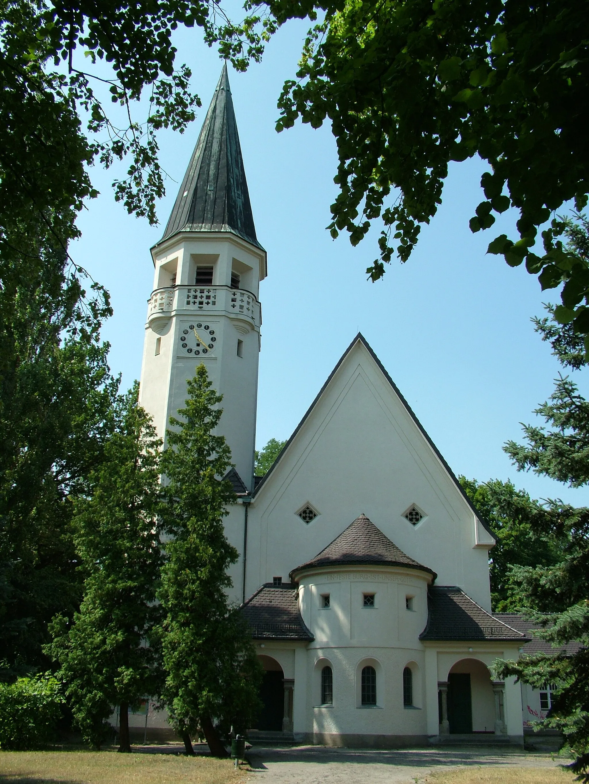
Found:
[[427, 784], [573, 784], [574, 781], [573, 773], [562, 768], [518, 768], [511, 765], [454, 768], [425, 779]]

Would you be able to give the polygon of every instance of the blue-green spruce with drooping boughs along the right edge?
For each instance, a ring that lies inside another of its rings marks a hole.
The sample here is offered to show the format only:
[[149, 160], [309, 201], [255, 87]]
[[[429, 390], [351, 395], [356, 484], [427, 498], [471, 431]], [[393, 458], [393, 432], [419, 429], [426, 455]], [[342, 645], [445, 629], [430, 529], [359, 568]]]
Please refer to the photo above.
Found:
[[[569, 252], [587, 254], [586, 220], [568, 221]], [[549, 308], [551, 315], [554, 313]], [[584, 340], [573, 325], [558, 325], [554, 318], [536, 320], [536, 329], [551, 343], [564, 367], [583, 368]], [[546, 426], [525, 426], [525, 444], [510, 441], [505, 449], [519, 470], [533, 470], [572, 487], [589, 482], [589, 404], [567, 376], [555, 383], [551, 399], [536, 413]], [[536, 536], [556, 537], [565, 546], [556, 564], [519, 566], [512, 570], [518, 597], [544, 626], [541, 636], [555, 646], [578, 641], [576, 652], [555, 650], [519, 662], [504, 662], [500, 677], [516, 675], [539, 687], [556, 683], [560, 690], [542, 726], [561, 730], [576, 755], [573, 771], [589, 782], [589, 509], [552, 501], [548, 514], [533, 524]]]

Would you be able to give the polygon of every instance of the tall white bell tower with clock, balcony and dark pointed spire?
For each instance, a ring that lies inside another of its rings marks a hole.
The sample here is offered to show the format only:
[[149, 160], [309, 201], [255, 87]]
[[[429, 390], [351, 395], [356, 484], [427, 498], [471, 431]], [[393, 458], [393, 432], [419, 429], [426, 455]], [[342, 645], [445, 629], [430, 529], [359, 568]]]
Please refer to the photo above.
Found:
[[220, 431], [242, 483], [253, 489], [260, 353], [256, 238], [235, 112], [223, 67], [162, 239], [151, 249], [140, 403], [163, 437], [204, 363], [223, 395]]

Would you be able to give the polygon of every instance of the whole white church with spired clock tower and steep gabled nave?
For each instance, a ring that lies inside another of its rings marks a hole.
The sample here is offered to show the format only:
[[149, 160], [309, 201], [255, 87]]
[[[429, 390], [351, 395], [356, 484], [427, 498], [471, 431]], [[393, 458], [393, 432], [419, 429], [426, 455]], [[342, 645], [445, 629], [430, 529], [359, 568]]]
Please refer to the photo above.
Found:
[[250, 737], [522, 744], [522, 688], [491, 668], [530, 637], [518, 616], [493, 615], [493, 535], [362, 334], [254, 476], [268, 268], [227, 67], [151, 255], [141, 404], [164, 436], [201, 362], [224, 396], [238, 498], [225, 525], [240, 554], [231, 598], [265, 673]]

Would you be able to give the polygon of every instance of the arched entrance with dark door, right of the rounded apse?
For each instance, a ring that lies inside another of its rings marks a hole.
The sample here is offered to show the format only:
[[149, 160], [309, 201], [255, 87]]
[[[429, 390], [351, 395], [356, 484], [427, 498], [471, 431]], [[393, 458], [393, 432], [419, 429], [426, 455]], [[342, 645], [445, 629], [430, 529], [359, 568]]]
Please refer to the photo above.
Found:
[[448, 681], [440, 687], [442, 732], [450, 735], [504, 733], [504, 684], [491, 681], [491, 673], [484, 662], [460, 659], [450, 669]]

